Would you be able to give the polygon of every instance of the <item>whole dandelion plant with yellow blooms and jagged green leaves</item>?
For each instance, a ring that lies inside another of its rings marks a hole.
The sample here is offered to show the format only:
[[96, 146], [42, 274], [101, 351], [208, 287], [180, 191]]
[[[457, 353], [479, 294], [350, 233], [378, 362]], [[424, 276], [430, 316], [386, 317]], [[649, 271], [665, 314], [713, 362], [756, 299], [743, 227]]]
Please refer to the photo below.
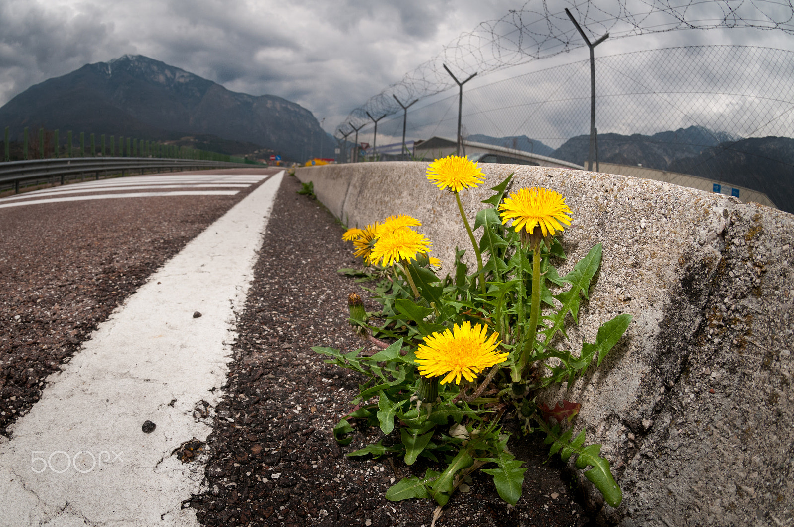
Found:
[[[354, 424], [378, 426], [384, 434], [397, 429], [394, 444], [380, 440], [348, 456], [397, 455], [407, 465], [421, 456], [442, 467], [395, 483], [386, 493], [392, 501], [431, 498], [445, 506], [479, 469], [493, 477], [504, 501], [515, 504], [526, 468], [507, 448], [502, 421], [516, 417], [525, 433], [546, 433], [550, 455], [576, 456], [576, 467], [591, 467], [585, 477], [609, 505], [618, 506], [622, 493], [600, 456], [601, 445], [585, 446], [584, 430], [572, 438], [569, 424], [580, 405], [566, 401], [550, 409], [537, 402], [541, 388], [570, 387], [593, 361], [600, 365], [630, 324], [631, 316], [621, 314], [604, 322], [595, 342], [584, 342], [578, 354], [558, 348], [568, 340], [568, 316], [578, 323], [581, 297], [588, 298], [600, 266], [601, 244], [560, 276], [553, 260], [566, 256], [556, 235], [571, 224], [572, 214], [561, 194], [533, 187], [505, 198], [509, 175], [491, 189], [472, 228], [459, 193], [483, 183], [476, 163], [449, 156], [430, 163], [427, 177], [454, 194], [477, 269], [469, 272], [461, 260], [465, 251], [456, 249], [453, 275], [439, 278], [441, 263], [430, 258], [430, 240], [415, 230], [422, 224], [414, 217], [391, 216], [345, 232], [343, 239], [353, 241], [356, 256], [369, 267], [341, 271], [361, 281], [378, 279], [370, 291], [382, 306], [367, 313], [358, 295], [351, 295], [349, 322], [380, 351], [368, 356], [364, 348], [346, 354], [313, 348], [330, 357], [327, 363], [366, 379], [334, 436], [349, 444]], [[474, 233], [480, 229], [478, 242]], [[549, 284], [561, 292], [553, 294]]]

